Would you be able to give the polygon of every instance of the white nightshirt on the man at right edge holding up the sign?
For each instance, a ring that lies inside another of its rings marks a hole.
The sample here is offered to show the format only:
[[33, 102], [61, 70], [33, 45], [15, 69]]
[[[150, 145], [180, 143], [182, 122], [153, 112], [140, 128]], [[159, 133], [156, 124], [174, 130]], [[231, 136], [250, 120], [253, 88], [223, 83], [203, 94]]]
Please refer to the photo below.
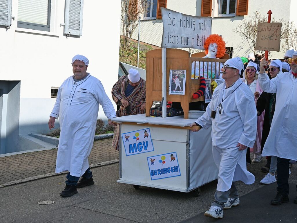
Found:
[[259, 74], [263, 91], [277, 93], [270, 132], [262, 156], [277, 156], [297, 160], [297, 79], [290, 72], [279, 73], [271, 80]]

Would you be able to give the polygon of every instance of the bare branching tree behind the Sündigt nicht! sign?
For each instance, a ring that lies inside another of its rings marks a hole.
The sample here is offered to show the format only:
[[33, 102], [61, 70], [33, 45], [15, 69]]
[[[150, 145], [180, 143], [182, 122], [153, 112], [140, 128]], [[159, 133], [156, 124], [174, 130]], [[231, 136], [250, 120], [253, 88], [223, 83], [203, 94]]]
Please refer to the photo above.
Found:
[[[249, 17], [249, 19], [242, 20], [238, 27], [236, 27], [233, 32], [240, 34], [242, 40], [245, 40], [249, 44], [249, 48], [257, 53], [255, 50], [256, 39], [257, 39], [257, 27], [258, 23], [267, 22], [267, 16], [261, 15], [259, 11], [254, 12], [254, 14]], [[282, 23], [282, 34], [281, 40], [290, 41], [290, 32], [295, 28], [294, 23], [290, 21], [285, 21], [284, 19], [275, 20], [271, 19], [271, 22]], [[296, 35], [297, 37], [297, 35]], [[264, 51], [258, 51], [258, 53], [263, 53]]]

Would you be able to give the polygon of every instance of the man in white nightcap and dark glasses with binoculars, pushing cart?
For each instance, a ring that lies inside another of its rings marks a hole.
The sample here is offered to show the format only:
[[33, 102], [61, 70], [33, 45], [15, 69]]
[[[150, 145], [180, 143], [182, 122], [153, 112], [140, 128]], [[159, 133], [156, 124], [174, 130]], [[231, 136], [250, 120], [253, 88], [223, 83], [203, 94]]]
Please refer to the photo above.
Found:
[[212, 125], [212, 153], [219, 175], [215, 200], [204, 215], [216, 219], [223, 218], [223, 209], [239, 205], [234, 181], [246, 184], [255, 181], [247, 171], [246, 148], [255, 143], [257, 111], [254, 95], [240, 78], [241, 70], [244, 66], [239, 57], [225, 62], [222, 67], [225, 80], [214, 90], [206, 112], [191, 125], [205, 129]]

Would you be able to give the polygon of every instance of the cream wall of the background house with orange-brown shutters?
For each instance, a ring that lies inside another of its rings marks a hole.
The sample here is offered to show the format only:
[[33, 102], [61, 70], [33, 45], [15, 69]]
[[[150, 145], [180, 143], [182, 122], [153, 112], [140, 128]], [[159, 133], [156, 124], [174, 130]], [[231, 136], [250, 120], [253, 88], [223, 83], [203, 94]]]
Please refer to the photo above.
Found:
[[[201, 0], [168, 0], [167, 8], [187, 15], [200, 16], [201, 15]], [[213, 0], [213, 19], [212, 19], [212, 33], [222, 35], [227, 47], [233, 47], [233, 57], [247, 56], [252, 50], [249, 48], [246, 41], [242, 41], [239, 34], [233, 30], [244, 19], [249, 19], [255, 11], [259, 11], [262, 15], [268, 16], [267, 12], [272, 11], [272, 19], [295, 21], [295, 9], [297, 9], [296, 0], [249, 0], [248, 15], [219, 18], [218, 14], [218, 0]], [[297, 24], [297, 23], [296, 23]], [[142, 20], [140, 23], [140, 41], [150, 43], [152, 45], [161, 46], [162, 42], [162, 19], [156, 20]], [[138, 28], [135, 30], [133, 39], [138, 40]], [[271, 58], [282, 58], [284, 51], [272, 52]]]

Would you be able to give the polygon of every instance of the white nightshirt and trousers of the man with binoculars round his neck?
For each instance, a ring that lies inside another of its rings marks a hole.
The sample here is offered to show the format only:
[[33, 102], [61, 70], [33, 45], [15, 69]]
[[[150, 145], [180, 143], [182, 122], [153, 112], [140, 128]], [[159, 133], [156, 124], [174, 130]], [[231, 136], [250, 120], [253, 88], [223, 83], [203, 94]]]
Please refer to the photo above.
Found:
[[[221, 102], [222, 115], [217, 108]], [[217, 111], [214, 119], [210, 117], [212, 110]], [[237, 180], [246, 184], [254, 183], [254, 175], [247, 171], [246, 150], [239, 151], [236, 147], [238, 142], [253, 147], [257, 131], [254, 95], [241, 78], [227, 89], [224, 80], [214, 90], [206, 112], [196, 120], [196, 123], [205, 129], [212, 125], [213, 157], [219, 168], [217, 190], [228, 191], [232, 182]]]

